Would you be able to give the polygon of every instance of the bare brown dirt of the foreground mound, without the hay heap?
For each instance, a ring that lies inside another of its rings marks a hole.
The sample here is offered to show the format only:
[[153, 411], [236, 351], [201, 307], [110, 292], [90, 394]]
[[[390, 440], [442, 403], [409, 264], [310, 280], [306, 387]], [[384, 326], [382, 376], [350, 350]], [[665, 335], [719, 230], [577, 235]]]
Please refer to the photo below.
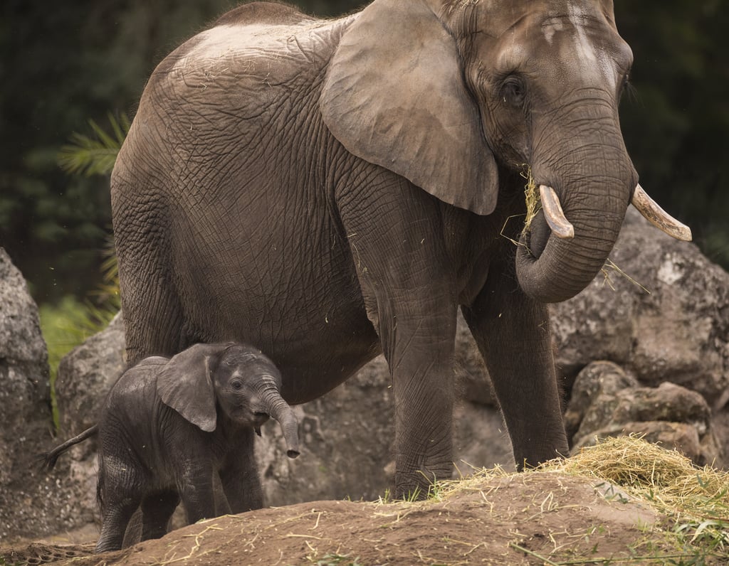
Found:
[[660, 564], [670, 551], [647, 541], [661, 520], [609, 484], [545, 471], [461, 482], [418, 503], [319, 501], [224, 516], [117, 553], [5, 547], [0, 565]]

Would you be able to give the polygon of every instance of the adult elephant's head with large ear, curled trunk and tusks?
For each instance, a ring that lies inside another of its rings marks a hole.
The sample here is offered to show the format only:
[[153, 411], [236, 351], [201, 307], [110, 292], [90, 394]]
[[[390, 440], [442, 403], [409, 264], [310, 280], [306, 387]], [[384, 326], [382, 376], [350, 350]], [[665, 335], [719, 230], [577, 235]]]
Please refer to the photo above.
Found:
[[479, 215], [504, 197], [502, 177], [529, 168], [541, 208], [518, 280], [558, 302], [599, 272], [631, 200], [690, 240], [625, 149], [631, 64], [612, 0], [375, 0], [343, 34], [320, 106], [350, 152]]

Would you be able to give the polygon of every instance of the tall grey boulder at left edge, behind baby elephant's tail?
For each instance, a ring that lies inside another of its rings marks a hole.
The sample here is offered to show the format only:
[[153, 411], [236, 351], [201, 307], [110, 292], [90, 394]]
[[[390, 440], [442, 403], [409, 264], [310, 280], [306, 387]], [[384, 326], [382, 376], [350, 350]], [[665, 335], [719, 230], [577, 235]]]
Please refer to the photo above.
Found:
[[79, 492], [39, 472], [50, 448], [48, 354], [38, 308], [23, 276], [0, 248], [0, 541], [82, 524]]

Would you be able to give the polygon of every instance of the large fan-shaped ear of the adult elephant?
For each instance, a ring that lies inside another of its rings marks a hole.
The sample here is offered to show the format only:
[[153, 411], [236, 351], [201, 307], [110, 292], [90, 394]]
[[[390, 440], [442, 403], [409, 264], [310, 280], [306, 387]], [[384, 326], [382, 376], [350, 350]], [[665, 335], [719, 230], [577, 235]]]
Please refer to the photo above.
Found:
[[496, 206], [496, 161], [456, 42], [424, 0], [375, 0], [351, 23], [319, 100], [351, 153], [477, 214]]

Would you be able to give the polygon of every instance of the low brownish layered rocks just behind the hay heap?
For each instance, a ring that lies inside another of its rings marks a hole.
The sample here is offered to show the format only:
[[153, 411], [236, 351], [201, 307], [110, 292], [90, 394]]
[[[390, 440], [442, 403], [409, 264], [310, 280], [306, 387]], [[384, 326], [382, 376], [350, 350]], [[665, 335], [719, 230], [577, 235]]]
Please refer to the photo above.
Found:
[[677, 449], [698, 465], [723, 456], [706, 400], [680, 385], [639, 387], [615, 363], [594, 362], [577, 376], [573, 393], [566, 412], [570, 428], [576, 430], [572, 453], [598, 438], [634, 433]]

